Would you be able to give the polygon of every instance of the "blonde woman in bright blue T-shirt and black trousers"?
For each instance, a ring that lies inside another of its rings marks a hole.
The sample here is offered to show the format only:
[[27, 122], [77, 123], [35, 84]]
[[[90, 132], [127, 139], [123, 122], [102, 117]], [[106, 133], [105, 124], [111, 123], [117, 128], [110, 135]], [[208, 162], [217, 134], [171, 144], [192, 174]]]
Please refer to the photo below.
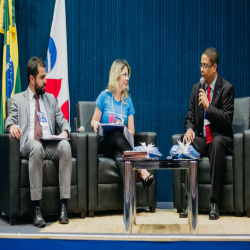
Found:
[[[135, 134], [134, 106], [130, 96], [129, 78], [131, 70], [126, 60], [115, 60], [110, 68], [109, 82], [106, 90], [102, 91], [96, 99], [96, 108], [91, 121], [91, 127], [97, 133], [100, 123], [122, 122], [127, 126], [131, 135]], [[99, 140], [99, 154], [116, 161], [119, 173], [124, 180], [124, 163], [117, 161], [122, 157], [123, 151], [132, 150], [129, 142], [122, 132], [112, 130]], [[154, 176], [142, 169], [140, 177], [144, 187], [154, 184]]]

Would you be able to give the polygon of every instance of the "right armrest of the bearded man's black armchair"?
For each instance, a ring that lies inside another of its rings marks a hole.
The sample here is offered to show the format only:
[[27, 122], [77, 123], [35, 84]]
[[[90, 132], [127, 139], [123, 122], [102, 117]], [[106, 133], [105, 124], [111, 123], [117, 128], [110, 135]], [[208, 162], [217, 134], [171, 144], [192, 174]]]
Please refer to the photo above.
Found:
[[72, 157], [76, 158], [78, 212], [87, 211], [87, 135], [71, 133]]

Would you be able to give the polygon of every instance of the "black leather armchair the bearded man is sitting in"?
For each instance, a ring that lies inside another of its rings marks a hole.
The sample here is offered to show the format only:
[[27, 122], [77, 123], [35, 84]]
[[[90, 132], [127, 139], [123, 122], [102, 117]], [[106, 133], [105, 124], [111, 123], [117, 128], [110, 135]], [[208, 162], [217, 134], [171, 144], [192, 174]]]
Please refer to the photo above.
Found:
[[[8, 114], [11, 99], [7, 100]], [[72, 179], [71, 198], [68, 200], [68, 213], [80, 213], [81, 218], [87, 211], [87, 138], [85, 134], [71, 134]], [[29, 162], [20, 158], [20, 141], [10, 134], [0, 134], [0, 215], [4, 212], [10, 217], [10, 223], [16, 224], [16, 218], [33, 215], [30, 200]], [[43, 198], [41, 209], [44, 215], [59, 214], [58, 163], [44, 161]]]

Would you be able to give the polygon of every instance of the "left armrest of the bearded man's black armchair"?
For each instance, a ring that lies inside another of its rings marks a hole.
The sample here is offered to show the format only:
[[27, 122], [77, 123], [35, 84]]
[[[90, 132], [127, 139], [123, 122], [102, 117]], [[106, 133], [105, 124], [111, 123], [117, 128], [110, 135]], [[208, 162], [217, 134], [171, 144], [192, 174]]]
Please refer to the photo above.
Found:
[[20, 140], [0, 134], [0, 211], [19, 216], [20, 204]]

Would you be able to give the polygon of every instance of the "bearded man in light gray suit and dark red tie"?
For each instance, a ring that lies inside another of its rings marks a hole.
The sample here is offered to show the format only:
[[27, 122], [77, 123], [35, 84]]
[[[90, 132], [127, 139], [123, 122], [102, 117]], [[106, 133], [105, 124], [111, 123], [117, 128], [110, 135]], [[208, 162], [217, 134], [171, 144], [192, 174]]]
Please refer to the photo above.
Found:
[[71, 186], [71, 147], [67, 140], [42, 140], [56, 134], [68, 138], [70, 126], [64, 118], [57, 100], [45, 93], [46, 63], [38, 57], [29, 60], [27, 66], [29, 87], [12, 98], [5, 132], [20, 139], [20, 155], [29, 160], [30, 196], [34, 204], [34, 225], [45, 227], [46, 223], [40, 209], [42, 199], [43, 161], [59, 162], [60, 217], [59, 223], [68, 224], [67, 199]]

